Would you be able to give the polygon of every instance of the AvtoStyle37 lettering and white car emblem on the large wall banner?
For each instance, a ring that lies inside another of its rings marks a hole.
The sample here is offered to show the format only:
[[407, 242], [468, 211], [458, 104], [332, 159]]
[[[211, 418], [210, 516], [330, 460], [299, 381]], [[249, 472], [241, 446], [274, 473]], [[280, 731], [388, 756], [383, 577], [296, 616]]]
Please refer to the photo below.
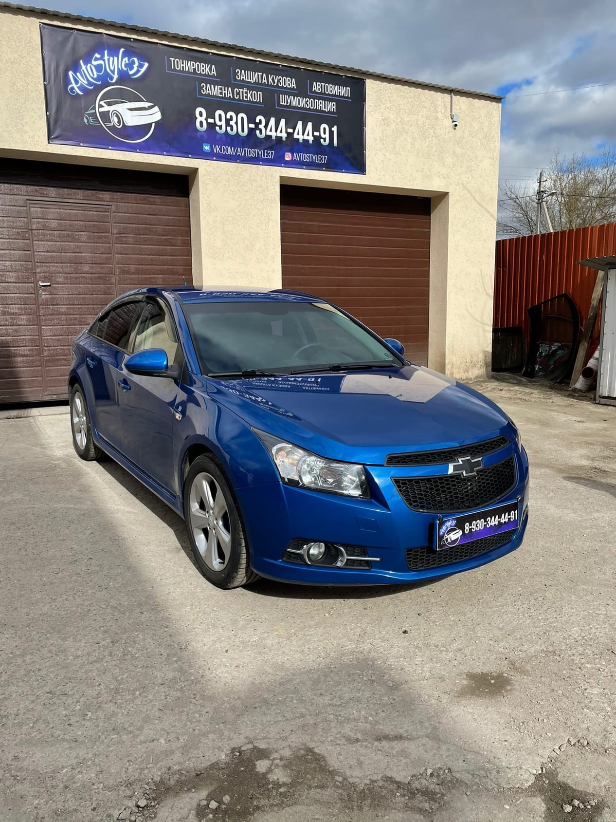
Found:
[[[162, 118], [159, 106], [146, 100], [128, 85], [117, 85], [118, 79], [137, 80], [148, 63], [126, 48], [115, 51], [105, 48], [67, 74], [70, 95], [88, 95], [103, 83], [93, 105], [84, 112], [86, 126], [102, 126], [109, 135], [123, 143], [142, 143], [154, 132], [154, 124]], [[125, 81], [126, 81], [125, 80]]]

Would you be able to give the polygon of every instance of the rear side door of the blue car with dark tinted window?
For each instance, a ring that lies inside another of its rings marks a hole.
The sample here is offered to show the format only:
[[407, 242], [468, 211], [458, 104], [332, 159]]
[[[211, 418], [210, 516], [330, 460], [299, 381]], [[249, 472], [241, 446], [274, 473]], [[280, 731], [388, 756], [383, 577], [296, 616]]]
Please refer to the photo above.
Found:
[[94, 408], [90, 409], [99, 436], [122, 450], [122, 422], [118, 396], [122, 386], [119, 368], [126, 358], [131, 330], [143, 305], [141, 300], [123, 301], [104, 313], [90, 329], [89, 351], [85, 358], [90, 376]]

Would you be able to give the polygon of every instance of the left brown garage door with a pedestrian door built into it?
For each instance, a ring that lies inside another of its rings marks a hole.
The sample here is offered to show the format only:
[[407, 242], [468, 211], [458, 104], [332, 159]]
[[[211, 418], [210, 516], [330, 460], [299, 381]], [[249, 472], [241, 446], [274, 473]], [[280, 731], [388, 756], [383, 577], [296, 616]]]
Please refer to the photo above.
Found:
[[186, 178], [0, 174], [0, 403], [67, 395], [71, 341], [118, 294], [192, 282]]

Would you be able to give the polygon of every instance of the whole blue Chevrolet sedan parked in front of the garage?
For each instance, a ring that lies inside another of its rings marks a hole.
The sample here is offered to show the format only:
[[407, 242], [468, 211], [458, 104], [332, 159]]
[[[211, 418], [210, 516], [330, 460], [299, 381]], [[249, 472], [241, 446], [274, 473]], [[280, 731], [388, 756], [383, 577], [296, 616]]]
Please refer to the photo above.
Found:
[[186, 522], [220, 588], [410, 583], [522, 543], [511, 419], [322, 299], [140, 289], [75, 340], [73, 444]]

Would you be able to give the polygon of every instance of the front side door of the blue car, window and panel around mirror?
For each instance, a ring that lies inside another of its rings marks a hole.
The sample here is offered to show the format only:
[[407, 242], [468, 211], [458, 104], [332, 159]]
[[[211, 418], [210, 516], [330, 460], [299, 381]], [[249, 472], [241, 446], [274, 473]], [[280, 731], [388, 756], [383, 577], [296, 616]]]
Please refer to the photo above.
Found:
[[[132, 334], [131, 352], [145, 349], [163, 349], [170, 367], [183, 362], [171, 312], [154, 298], [145, 301]], [[172, 431], [179, 381], [131, 374], [124, 367], [118, 380], [125, 386], [118, 396], [124, 454], [154, 482], [175, 493]]]

